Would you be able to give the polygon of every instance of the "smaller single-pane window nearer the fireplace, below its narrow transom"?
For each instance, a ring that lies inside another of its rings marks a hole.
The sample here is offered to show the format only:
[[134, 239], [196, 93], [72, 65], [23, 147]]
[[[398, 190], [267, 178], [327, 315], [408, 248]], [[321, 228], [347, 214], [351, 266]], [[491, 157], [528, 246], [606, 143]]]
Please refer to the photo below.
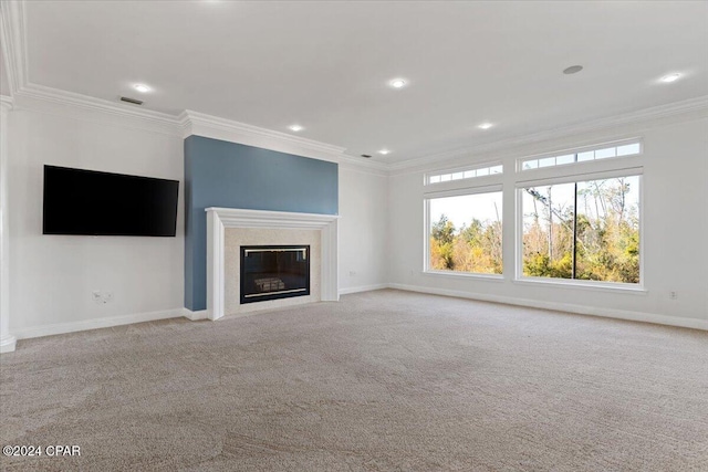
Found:
[[501, 191], [428, 198], [429, 271], [501, 274]]

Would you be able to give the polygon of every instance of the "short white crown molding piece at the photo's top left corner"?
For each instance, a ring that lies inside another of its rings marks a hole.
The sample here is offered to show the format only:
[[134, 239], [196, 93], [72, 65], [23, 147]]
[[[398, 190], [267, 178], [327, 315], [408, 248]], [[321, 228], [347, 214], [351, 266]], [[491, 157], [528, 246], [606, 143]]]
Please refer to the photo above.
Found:
[[12, 95], [27, 84], [25, 31], [24, 1], [0, 1], [0, 44]]

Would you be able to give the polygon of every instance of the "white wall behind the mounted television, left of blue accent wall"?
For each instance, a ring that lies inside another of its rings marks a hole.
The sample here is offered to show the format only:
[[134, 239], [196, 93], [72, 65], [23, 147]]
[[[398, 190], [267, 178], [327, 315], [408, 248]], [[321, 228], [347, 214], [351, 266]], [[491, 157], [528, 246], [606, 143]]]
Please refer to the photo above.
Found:
[[[22, 338], [179, 315], [181, 137], [105, 113], [17, 105], [9, 159], [11, 333]], [[177, 237], [42, 235], [44, 164], [179, 180]], [[93, 291], [112, 292], [113, 300], [96, 304]]]

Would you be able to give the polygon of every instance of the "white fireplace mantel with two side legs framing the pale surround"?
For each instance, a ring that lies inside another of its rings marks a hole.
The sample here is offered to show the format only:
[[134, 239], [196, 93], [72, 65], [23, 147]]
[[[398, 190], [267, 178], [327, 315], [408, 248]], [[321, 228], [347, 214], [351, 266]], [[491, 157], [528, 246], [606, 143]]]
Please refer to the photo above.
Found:
[[322, 234], [323, 302], [340, 300], [337, 283], [337, 220], [336, 214], [291, 213], [287, 211], [242, 210], [238, 208], [207, 208], [207, 317], [225, 315], [225, 249], [226, 228], [266, 228], [282, 230], [320, 230]]

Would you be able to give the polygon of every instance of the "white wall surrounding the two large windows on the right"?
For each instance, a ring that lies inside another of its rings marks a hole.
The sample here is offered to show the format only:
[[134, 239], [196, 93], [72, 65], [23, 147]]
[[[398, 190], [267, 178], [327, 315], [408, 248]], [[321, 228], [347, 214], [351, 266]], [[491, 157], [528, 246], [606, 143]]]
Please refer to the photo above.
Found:
[[[423, 273], [423, 172], [389, 177], [389, 272], [393, 286], [431, 293], [519, 303], [579, 313], [645, 319], [708, 328], [708, 118], [673, 118], [673, 123], [625, 126], [604, 133], [539, 143], [460, 164], [502, 159], [506, 175], [504, 228], [514, 221], [514, 161], [518, 157], [623, 137], [644, 138], [644, 285], [645, 293], [596, 291], [513, 282], [514, 234], [504, 232], [504, 279], [489, 281]], [[446, 166], [437, 168], [446, 168]], [[678, 300], [669, 300], [670, 291]]]

